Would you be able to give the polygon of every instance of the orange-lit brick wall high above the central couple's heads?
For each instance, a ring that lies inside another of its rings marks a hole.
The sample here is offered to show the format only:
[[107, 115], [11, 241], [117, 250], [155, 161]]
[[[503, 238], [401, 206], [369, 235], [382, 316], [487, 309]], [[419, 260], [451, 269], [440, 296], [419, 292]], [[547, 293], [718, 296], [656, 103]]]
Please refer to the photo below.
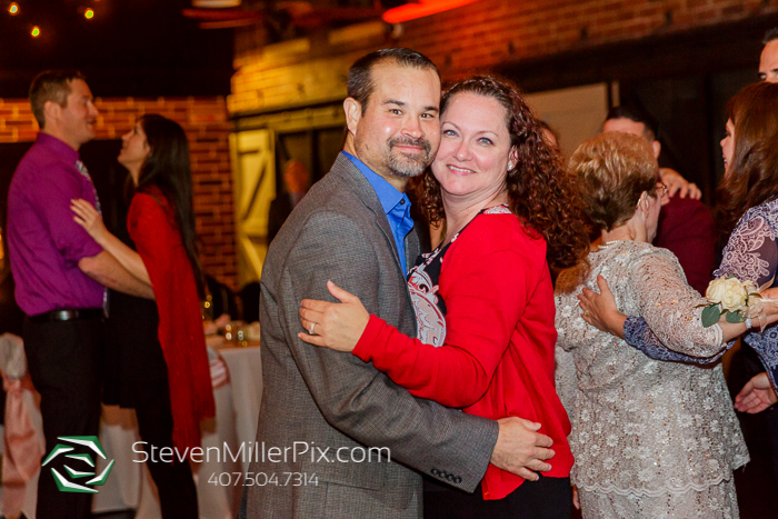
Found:
[[406, 22], [399, 34], [366, 30], [342, 43], [318, 34], [308, 44], [262, 48], [261, 29], [246, 28], [236, 33], [238, 72], [228, 108], [236, 113], [342, 98], [351, 62], [382, 47], [419, 50], [452, 79], [506, 61], [775, 12], [778, 0], [482, 0]]

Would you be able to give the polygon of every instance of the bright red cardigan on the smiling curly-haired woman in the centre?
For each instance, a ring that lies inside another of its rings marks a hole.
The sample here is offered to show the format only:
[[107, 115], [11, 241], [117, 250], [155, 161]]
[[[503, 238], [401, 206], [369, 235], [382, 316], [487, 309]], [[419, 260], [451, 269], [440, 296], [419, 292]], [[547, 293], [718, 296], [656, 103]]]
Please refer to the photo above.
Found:
[[[570, 475], [570, 421], [553, 380], [555, 305], [546, 242], [513, 214], [480, 214], [442, 262], [446, 343], [435, 348], [371, 316], [353, 355], [411, 395], [490, 419], [542, 425], [556, 456], [548, 477]], [[411, 425], [412, 427], [412, 425]], [[501, 499], [523, 479], [489, 465], [485, 499]]]

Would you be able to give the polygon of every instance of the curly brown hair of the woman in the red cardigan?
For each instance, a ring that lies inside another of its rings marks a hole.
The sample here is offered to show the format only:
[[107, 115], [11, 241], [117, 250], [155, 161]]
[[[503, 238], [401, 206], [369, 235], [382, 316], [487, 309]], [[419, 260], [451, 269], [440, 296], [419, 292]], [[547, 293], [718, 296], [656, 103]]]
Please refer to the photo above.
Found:
[[[566, 173], [559, 151], [543, 139], [540, 121], [525, 103], [517, 87], [508, 80], [475, 76], [443, 92], [440, 113], [460, 93], [475, 93], [497, 100], [506, 111], [511, 150], [518, 161], [506, 173], [510, 210], [533, 238], [546, 240], [546, 258], [551, 268], [569, 268], [589, 250], [585, 217], [577, 190]], [[433, 226], [440, 226], [443, 212], [440, 183], [430, 169], [420, 183], [421, 210]]]

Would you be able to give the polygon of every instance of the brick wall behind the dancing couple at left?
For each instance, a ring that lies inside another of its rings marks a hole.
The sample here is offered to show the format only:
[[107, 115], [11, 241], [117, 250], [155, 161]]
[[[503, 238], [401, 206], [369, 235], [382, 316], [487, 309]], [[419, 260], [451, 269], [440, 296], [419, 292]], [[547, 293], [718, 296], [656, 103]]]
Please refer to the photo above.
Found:
[[[236, 288], [237, 266], [232, 212], [232, 172], [225, 99], [98, 98], [97, 139], [118, 139], [136, 118], [160, 113], [180, 123], [189, 138], [194, 180], [194, 213], [201, 260], [209, 273]], [[26, 99], [0, 99], [0, 142], [32, 141], [38, 124]]]

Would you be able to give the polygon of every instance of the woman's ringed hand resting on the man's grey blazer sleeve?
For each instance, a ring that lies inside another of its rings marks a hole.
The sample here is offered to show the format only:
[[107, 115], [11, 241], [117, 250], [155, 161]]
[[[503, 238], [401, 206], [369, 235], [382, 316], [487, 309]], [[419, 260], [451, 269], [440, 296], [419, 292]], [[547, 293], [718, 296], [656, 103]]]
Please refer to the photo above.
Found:
[[300, 303], [300, 323], [306, 332], [297, 337], [309, 345], [352, 351], [368, 326], [370, 315], [357, 296], [332, 281], [327, 281], [327, 289], [340, 303], [303, 299]]

